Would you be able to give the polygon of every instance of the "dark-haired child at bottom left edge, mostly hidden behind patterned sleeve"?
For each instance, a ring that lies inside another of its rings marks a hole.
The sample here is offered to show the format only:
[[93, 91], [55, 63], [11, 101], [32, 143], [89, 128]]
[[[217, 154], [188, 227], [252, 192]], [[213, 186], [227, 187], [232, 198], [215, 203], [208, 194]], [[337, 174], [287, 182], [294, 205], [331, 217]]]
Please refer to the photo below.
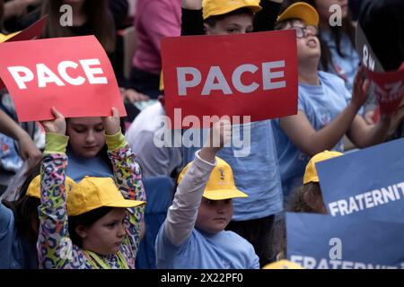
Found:
[[[22, 184], [20, 198], [0, 203], [0, 269], [38, 269], [39, 174], [40, 164]], [[68, 190], [75, 185], [71, 178], [66, 183]]]

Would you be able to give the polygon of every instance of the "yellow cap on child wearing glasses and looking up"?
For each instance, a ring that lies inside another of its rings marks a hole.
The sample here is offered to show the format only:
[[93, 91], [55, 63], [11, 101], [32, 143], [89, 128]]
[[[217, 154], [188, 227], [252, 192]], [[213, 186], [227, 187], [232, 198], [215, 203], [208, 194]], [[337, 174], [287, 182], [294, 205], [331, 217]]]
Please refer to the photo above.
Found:
[[319, 26], [319, 13], [311, 5], [304, 2], [296, 2], [288, 6], [284, 12], [277, 16], [277, 23], [288, 19], [301, 19], [306, 25]]

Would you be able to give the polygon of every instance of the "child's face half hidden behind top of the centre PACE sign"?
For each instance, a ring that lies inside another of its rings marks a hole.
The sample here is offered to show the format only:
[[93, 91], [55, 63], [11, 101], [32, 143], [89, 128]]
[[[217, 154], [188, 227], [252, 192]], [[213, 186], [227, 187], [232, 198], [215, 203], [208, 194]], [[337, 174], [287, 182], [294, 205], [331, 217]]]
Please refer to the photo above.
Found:
[[252, 15], [235, 14], [217, 21], [215, 26], [205, 25], [207, 35], [245, 34], [252, 32]]

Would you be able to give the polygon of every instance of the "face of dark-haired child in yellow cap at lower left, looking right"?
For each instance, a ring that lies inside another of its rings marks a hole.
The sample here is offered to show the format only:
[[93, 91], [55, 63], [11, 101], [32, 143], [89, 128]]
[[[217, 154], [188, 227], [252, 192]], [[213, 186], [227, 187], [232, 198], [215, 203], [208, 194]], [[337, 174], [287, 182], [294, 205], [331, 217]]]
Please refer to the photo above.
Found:
[[115, 254], [119, 251], [126, 233], [127, 210], [114, 208], [102, 216], [81, 234], [83, 248], [101, 255]]

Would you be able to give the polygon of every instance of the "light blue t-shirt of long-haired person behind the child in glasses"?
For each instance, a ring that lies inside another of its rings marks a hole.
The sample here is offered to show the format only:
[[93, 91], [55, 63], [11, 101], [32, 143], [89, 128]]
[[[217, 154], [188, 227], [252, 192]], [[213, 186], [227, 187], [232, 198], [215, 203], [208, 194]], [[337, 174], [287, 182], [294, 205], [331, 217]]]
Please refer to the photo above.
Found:
[[336, 74], [344, 80], [348, 91], [352, 92], [360, 59], [355, 47], [346, 33], [341, 35], [340, 50], [344, 57], [338, 54], [337, 45], [329, 30], [321, 32], [321, 39], [329, 46], [332, 63], [329, 63], [329, 73]]

